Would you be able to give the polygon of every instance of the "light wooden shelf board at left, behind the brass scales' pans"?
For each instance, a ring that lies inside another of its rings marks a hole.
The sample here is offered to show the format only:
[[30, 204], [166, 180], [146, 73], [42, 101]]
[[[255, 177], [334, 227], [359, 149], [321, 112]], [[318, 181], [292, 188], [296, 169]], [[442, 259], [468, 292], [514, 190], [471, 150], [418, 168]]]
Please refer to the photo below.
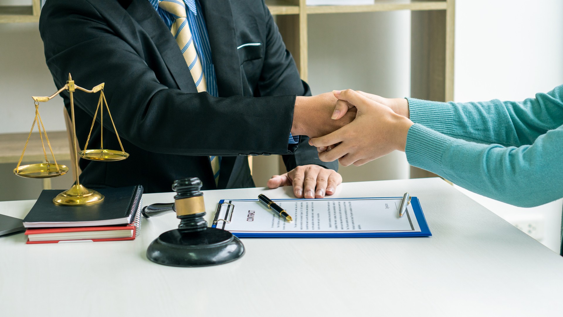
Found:
[[[25, 140], [28, 138], [29, 133], [9, 133], [0, 134], [0, 163], [13, 163], [16, 167], [17, 161], [20, 160], [21, 151], [24, 149]], [[70, 160], [69, 139], [66, 131], [53, 131], [47, 132], [51, 148], [55, 154], [57, 161]], [[47, 157], [51, 161], [51, 153], [47, 144]], [[39, 141], [39, 133], [34, 132], [29, 140], [29, 145], [25, 150], [23, 162], [44, 162], [43, 148]]]

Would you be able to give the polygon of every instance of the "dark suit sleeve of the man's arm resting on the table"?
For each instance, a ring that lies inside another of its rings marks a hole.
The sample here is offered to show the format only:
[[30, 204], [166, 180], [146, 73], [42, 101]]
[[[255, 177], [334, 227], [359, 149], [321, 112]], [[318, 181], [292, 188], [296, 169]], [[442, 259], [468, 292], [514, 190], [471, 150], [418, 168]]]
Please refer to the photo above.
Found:
[[[285, 48], [282, 36], [265, 3], [266, 14], [266, 53], [258, 89], [261, 96], [293, 94], [310, 96], [311, 90], [302, 81], [291, 53]], [[300, 165], [316, 164], [327, 169], [338, 170], [338, 161], [323, 162], [315, 147], [309, 145], [309, 138], [301, 135], [293, 155], [284, 155], [285, 168], [289, 171]]]

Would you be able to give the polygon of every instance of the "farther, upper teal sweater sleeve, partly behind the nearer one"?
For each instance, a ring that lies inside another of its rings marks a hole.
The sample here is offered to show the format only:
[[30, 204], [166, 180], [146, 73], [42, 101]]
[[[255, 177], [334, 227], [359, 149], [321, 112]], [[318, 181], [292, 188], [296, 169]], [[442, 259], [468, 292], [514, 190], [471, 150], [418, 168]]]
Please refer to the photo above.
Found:
[[409, 98], [410, 120], [479, 143], [522, 146], [563, 125], [563, 85], [523, 102], [440, 103]]

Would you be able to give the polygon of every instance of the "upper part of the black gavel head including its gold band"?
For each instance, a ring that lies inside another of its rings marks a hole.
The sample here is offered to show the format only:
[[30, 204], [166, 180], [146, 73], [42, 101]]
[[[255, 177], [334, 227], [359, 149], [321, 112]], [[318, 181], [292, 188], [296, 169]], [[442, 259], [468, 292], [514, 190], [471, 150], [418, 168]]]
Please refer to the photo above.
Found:
[[174, 196], [176, 215], [193, 215], [205, 213], [203, 202], [202, 181], [197, 177], [178, 179], [172, 184], [172, 190], [176, 192]]

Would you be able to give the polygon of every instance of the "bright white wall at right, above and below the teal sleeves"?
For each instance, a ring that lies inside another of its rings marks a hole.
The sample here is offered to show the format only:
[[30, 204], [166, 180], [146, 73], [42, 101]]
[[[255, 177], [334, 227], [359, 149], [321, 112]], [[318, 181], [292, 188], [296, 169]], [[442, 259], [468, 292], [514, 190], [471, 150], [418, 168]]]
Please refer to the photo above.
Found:
[[[455, 101], [523, 100], [563, 83], [563, 1], [455, 3]], [[538, 240], [558, 252], [561, 200], [528, 209], [467, 194], [508, 222], [540, 222]]]

